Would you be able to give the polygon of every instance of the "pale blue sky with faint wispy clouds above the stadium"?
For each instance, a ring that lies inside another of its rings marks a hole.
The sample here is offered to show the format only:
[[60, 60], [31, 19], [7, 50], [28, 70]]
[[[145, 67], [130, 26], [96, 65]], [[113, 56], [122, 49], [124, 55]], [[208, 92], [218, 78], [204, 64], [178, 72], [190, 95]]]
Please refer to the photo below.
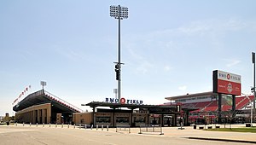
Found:
[[[256, 1], [0, 1], [0, 115], [28, 85], [81, 107], [117, 88], [117, 20], [110, 5], [129, 8], [121, 22], [122, 96], [145, 104], [212, 90], [212, 71], [253, 85]], [[26, 93], [27, 95], [28, 93]], [[22, 96], [20, 99], [23, 99]]]

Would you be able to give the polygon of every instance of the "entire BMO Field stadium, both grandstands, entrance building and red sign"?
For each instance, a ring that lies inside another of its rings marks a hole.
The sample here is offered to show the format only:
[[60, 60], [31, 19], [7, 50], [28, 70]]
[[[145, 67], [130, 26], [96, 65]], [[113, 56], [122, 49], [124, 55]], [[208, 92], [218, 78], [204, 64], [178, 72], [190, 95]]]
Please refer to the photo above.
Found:
[[[249, 122], [247, 106], [250, 101], [240, 94], [241, 76], [216, 70], [213, 71], [212, 91], [166, 97], [169, 102], [161, 105], [105, 98], [104, 102], [83, 104], [92, 108], [92, 112], [84, 112], [45, 90], [39, 90], [26, 96], [13, 110], [17, 122], [32, 124], [177, 126]], [[248, 97], [254, 100], [254, 96]], [[252, 118], [255, 122], [254, 114]]]

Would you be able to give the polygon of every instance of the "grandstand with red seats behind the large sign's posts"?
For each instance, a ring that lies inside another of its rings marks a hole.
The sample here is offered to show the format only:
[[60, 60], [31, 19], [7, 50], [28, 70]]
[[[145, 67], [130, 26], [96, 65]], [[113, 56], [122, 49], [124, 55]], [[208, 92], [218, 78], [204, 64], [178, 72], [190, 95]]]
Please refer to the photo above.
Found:
[[[248, 96], [253, 101], [253, 96]], [[211, 124], [218, 119], [218, 94], [209, 92], [186, 94], [183, 96], [166, 97], [163, 105], [181, 105], [181, 107], [197, 108], [189, 112], [190, 124]], [[236, 96], [236, 122], [246, 122], [249, 120], [249, 108], [252, 107], [246, 96]], [[232, 96], [223, 95], [221, 111], [223, 118], [227, 118], [232, 110]]]

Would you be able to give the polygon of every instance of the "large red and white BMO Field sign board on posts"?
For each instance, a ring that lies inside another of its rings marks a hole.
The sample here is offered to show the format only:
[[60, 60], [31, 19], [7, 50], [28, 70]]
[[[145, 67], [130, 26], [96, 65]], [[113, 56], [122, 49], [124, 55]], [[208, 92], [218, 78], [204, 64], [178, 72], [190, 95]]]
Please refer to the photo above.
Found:
[[223, 71], [213, 71], [213, 93], [241, 95], [241, 76]]

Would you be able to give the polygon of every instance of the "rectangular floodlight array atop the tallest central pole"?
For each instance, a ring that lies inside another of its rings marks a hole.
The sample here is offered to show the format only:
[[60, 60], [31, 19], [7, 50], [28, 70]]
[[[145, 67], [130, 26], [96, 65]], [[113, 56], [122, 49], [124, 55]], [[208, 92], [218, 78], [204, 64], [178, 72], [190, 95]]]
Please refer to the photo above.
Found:
[[128, 8], [119, 6], [110, 6], [110, 16], [114, 19], [127, 19], [128, 18]]

